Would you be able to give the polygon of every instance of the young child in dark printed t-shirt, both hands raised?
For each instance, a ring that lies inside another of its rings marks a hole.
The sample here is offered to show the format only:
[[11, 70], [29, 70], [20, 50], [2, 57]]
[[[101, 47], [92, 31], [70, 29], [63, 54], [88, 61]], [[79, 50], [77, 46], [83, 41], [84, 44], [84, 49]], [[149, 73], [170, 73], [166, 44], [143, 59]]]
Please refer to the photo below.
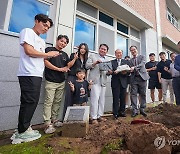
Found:
[[84, 80], [85, 78], [85, 70], [84, 69], [77, 69], [76, 71], [77, 80], [72, 83], [71, 81], [68, 82], [73, 92], [73, 105], [80, 105], [85, 106], [88, 101], [88, 90], [91, 89], [92, 80], [87, 81]]

